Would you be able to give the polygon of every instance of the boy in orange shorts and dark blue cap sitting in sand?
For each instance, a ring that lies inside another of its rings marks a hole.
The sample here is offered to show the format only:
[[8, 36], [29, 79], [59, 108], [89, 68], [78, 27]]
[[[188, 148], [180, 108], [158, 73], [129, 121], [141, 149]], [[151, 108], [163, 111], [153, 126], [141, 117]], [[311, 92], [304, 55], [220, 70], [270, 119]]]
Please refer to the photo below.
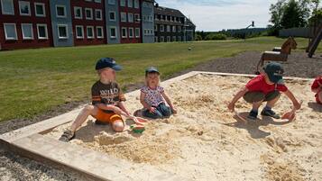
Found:
[[120, 86], [115, 82], [115, 71], [121, 67], [115, 59], [103, 58], [96, 65], [99, 80], [92, 86], [92, 104], [87, 105], [73, 122], [70, 128], [61, 135], [60, 140], [69, 141], [75, 137], [75, 131], [87, 120], [88, 115], [97, 119], [96, 123], [110, 123], [113, 130], [124, 130], [124, 121], [121, 115], [135, 119], [125, 108], [125, 97]]

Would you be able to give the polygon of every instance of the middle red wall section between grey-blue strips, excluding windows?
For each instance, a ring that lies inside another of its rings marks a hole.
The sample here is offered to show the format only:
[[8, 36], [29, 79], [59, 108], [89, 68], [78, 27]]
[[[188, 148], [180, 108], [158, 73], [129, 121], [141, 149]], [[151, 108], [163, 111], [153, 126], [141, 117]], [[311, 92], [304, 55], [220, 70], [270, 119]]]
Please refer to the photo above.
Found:
[[[73, 34], [74, 34], [74, 44], [77, 45], [97, 45], [97, 44], [106, 44], [106, 15], [105, 15], [105, 5], [104, 0], [101, 1], [101, 3], [95, 3], [93, 2], [86, 2], [85, 0], [82, 1], [76, 1], [71, 0], [70, 1], [70, 7], [71, 7], [71, 15], [72, 15], [72, 23], [73, 23]], [[74, 14], [74, 6], [82, 7], [82, 14], [83, 19], [75, 19]], [[85, 16], [85, 8], [92, 8], [93, 10], [93, 20], [87, 20]], [[102, 10], [102, 20], [96, 21], [95, 20], [95, 9]], [[76, 25], [82, 25], [84, 28], [84, 39], [77, 39], [76, 38]], [[94, 39], [87, 39], [87, 26], [94, 26]], [[97, 39], [97, 26], [103, 27], [103, 33], [104, 38], [103, 39]]]

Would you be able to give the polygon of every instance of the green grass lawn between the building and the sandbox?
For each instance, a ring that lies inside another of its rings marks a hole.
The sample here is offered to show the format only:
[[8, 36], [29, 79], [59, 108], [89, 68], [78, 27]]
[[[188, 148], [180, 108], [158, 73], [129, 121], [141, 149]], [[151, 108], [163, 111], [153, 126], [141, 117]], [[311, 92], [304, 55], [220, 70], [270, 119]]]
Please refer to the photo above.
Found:
[[[143, 81], [144, 68], [157, 66], [162, 77], [211, 59], [245, 50], [271, 50], [285, 39], [260, 37], [247, 41], [118, 44], [69, 48], [0, 51], [0, 122], [32, 118], [70, 101], [89, 100], [97, 80], [97, 59], [112, 57], [124, 67], [121, 85]], [[297, 39], [304, 52], [306, 39]], [[192, 50], [189, 51], [188, 48]], [[321, 49], [321, 46], [319, 47]]]

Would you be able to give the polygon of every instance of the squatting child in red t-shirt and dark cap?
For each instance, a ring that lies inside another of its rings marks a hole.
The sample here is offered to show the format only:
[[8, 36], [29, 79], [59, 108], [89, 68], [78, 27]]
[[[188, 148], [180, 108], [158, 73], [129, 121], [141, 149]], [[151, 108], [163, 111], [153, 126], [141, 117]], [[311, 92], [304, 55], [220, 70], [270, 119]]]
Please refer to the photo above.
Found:
[[281, 116], [273, 112], [271, 108], [279, 100], [280, 92], [282, 92], [290, 98], [294, 108], [299, 110], [300, 104], [298, 100], [290, 92], [288, 87], [283, 84], [282, 74], [284, 70], [281, 64], [269, 63], [263, 69], [264, 73], [262, 75], [254, 77], [235, 95], [231, 103], [228, 104], [228, 109], [233, 112], [235, 110], [235, 103], [243, 96], [247, 103], [253, 104], [253, 109], [247, 118], [255, 120], [262, 102], [267, 102], [261, 114], [263, 116], [280, 119]]

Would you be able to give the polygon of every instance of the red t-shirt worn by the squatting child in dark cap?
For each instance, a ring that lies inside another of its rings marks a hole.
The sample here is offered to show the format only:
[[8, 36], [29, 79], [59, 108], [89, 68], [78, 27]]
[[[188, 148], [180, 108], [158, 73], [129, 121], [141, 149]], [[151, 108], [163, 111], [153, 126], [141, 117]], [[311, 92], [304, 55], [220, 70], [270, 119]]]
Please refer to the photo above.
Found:
[[267, 84], [263, 75], [254, 77], [252, 80], [250, 80], [246, 84], [246, 88], [250, 92], [262, 92], [264, 95], [267, 95], [268, 93], [271, 93], [274, 90], [278, 90], [281, 92], [286, 92], [288, 90], [288, 87], [283, 84]]

